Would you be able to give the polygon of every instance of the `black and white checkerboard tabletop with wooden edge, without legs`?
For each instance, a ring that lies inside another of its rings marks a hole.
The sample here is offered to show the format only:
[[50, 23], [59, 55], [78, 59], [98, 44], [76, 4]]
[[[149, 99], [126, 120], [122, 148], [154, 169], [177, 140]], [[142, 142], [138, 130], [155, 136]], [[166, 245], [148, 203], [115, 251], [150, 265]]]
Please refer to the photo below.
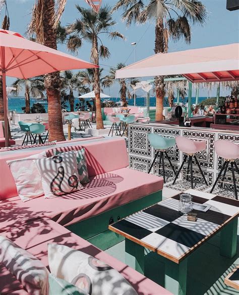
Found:
[[196, 190], [185, 193], [193, 196], [194, 203], [211, 206], [207, 212], [194, 210], [196, 222], [178, 212], [178, 194], [109, 225], [109, 229], [180, 263], [239, 213], [237, 200]]

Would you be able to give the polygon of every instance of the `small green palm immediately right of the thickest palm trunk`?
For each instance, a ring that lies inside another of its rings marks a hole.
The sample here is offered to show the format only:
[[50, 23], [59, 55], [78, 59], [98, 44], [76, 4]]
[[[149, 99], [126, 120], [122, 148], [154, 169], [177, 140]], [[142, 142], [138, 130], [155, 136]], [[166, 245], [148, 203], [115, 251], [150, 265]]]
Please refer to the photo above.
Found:
[[[78, 91], [78, 93], [87, 93], [88, 88], [81, 83], [80, 79], [78, 79], [78, 74], [74, 74], [72, 71], [65, 71], [61, 74], [61, 80], [62, 80], [62, 89], [65, 92], [65, 99], [66, 101], [69, 101], [71, 111], [74, 111], [74, 103], [75, 103], [75, 97], [74, 97], [74, 90]], [[69, 94], [67, 94], [67, 91], [69, 90]]]

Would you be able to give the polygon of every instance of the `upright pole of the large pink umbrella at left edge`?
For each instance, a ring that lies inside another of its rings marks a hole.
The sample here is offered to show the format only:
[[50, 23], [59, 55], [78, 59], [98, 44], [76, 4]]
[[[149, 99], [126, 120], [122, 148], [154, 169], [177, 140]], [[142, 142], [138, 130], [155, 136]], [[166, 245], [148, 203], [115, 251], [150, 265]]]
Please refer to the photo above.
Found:
[[1, 46], [2, 57], [2, 75], [3, 75], [3, 100], [4, 100], [4, 136], [5, 146], [9, 146], [8, 136], [8, 106], [7, 106], [7, 86], [6, 86], [6, 70], [5, 70], [5, 48]]

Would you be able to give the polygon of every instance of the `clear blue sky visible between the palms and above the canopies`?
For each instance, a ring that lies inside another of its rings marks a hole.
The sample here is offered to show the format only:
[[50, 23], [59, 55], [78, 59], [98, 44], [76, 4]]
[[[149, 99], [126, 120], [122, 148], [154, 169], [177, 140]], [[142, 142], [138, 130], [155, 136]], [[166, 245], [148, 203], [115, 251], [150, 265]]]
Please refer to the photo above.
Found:
[[[35, 0], [8, 0], [8, 9], [10, 15], [10, 30], [25, 34], [27, 24], [31, 18], [32, 7]], [[147, 3], [148, 0], [145, 0]], [[169, 43], [169, 52], [202, 48], [208, 46], [224, 45], [239, 42], [239, 11], [229, 12], [226, 10], [226, 0], [201, 0], [209, 11], [209, 18], [207, 24], [202, 27], [194, 25], [192, 27], [192, 41], [191, 44], [186, 44], [184, 40]], [[117, 0], [103, 0], [103, 4], [110, 6], [114, 5]], [[62, 24], [66, 25], [72, 23], [79, 17], [75, 5], [82, 5], [87, 7], [84, 0], [68, 0], [64, 15], [62, 17]], [[122, 11], [115, 12], [113, 17], [117, 24], [115, 30], [120, 31], [126, 37], [126, 41], [111, 39], [103, 39], [103, 43], [111, 52], [108, 60], [101, 60], [101, 67], [104, 68], [107, 74], [109, 67], [114, 67], [117, 63], [131, 64], [134, 62], [134, 50], [131, 45], [132, 42], [137, 42], [136, 47], [136, 61], [141, 60], [149, 55], [154, 54], [154, 24], [147, 23], [145, 25], [132, 25], [126, 27], [121, 21]], [[1, 21], [3, 19], [3, 12]], [[67, 52], [64, 45], [58, 46], [59, 50]], [[68, 52], [69, 53], [69, 52]], [[85, 43], [78, 51], [78, 57], [89, 61], [90, 58], [90, 44]], [[8, 78], [7, 84], [10, 85], [14, 79]], [[201, 96], [206, 96], [206, 90], [200, 90]], [[117, 96], [118, 85], [105, 90], [106, 94]], [[194, 93], [193, 93], [194, 94]], [[227, 91], [222, 91], [221, 94], [228, 94]], [[211, 95], [215, 95], [215, 90]]]

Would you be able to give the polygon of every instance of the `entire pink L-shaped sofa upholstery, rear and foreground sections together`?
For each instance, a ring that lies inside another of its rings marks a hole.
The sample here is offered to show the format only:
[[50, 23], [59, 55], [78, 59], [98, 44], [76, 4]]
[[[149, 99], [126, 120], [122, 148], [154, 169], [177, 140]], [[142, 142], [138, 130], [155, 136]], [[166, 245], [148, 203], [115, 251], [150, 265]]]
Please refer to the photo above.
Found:
[[[23, 158], [52, 148], [86, 149], [90, 183], [84, 190], [54, 199], [43, 196], [23, 203], [6, 160]], [[0, 153], [0, 232], [47, 266], [47, 243], [64, 244], [102, 259], [120, 271], [141, 295], [170, 294], [135, 270], [102, 252], [64, 226], [159, 192], [158, 176], [127, 168], [126, 142], [122, 138], [92, 138]], [[107, 217], [108, 218], [108, 217]], [[109, 219], [107, 219], [109, 220]], [[23, 286], [0, 264], [0, 293], [25, 295]], [[4, 278], [4, 279], [2, 279]]]

